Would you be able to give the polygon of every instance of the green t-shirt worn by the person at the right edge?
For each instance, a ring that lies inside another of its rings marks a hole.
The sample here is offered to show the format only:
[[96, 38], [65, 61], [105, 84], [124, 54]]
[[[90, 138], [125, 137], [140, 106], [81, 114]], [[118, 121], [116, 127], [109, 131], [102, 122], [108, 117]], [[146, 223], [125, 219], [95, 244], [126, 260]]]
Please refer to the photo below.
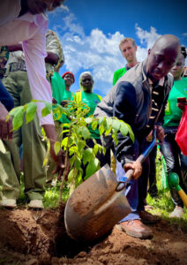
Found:
[[178, 126], [183, 114], [177, 106], [177, 97], [187, 97], [187, 79], [182, 78], [174, 81], [174, 85], [168, 95], [163, 126]]

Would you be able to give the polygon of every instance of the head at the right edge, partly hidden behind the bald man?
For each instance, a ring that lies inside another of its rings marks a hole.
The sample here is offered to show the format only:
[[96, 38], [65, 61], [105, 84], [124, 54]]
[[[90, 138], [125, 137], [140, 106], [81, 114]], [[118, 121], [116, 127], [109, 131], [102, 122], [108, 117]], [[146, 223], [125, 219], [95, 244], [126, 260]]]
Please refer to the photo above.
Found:
[[172, 67], [171, 69], [171, 73], [173, 74], [175, 80], [181, 79], [185, 64], [185, 58], [186, 58], [186, 50], [185, 47], [182, 47], [181, 54], [178, 57], [174, 67]]

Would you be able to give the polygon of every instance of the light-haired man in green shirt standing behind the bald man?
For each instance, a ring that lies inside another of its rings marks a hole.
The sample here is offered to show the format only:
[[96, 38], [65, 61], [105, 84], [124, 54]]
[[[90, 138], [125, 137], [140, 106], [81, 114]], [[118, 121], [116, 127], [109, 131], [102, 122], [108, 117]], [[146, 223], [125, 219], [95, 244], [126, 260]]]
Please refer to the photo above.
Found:
[[125, 38], [119, 43], [119, 49], [121, 50], [122, 56], [126, 59], [127, 64], [125, 67], [116, 70], [113, 76], [113, 86], [116, 84], [116, 81], [123, 76], [131, 67], [138, 64], [136, 52], [137, 45], [132, 38]]

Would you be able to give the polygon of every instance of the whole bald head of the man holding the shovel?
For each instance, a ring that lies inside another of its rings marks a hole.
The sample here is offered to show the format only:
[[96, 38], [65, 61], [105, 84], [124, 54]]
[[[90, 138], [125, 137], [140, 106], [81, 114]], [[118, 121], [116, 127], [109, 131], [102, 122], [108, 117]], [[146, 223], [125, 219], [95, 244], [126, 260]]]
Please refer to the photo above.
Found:
[[178, 38], [172, 34], [162, 35], [148, 50], [146, 73], [153, 83], [166, 76], [176, 63], [181, 51]]

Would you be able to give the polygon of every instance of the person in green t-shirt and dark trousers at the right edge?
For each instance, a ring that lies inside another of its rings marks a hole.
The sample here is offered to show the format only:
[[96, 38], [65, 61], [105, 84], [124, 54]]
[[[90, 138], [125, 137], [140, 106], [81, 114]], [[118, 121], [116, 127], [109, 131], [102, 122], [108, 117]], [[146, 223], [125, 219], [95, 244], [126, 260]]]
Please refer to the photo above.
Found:
[[[176, 172], [179, 176], [180, 186], [187, 193], [187, 156], [183, 155], [175, 140], [183, 114], [183, 111], [177, 107], [177, 97], [187, 97], [187, 79], [182, 77], [185, 57], [186, 50], [184, 47], [176, 65], [171, 69], [171, 73], [174, 76], [174, 85], [168, 95], [168, 103], [165, 110], [163, 124], [165, 139], [161, 146], [161, 152], [166, 160], [167, 173]], [[170, 217], [182, 217], [183, 201], [175, 189], [170, 188], [170, 192], [172, 201], [176, 206]]]

